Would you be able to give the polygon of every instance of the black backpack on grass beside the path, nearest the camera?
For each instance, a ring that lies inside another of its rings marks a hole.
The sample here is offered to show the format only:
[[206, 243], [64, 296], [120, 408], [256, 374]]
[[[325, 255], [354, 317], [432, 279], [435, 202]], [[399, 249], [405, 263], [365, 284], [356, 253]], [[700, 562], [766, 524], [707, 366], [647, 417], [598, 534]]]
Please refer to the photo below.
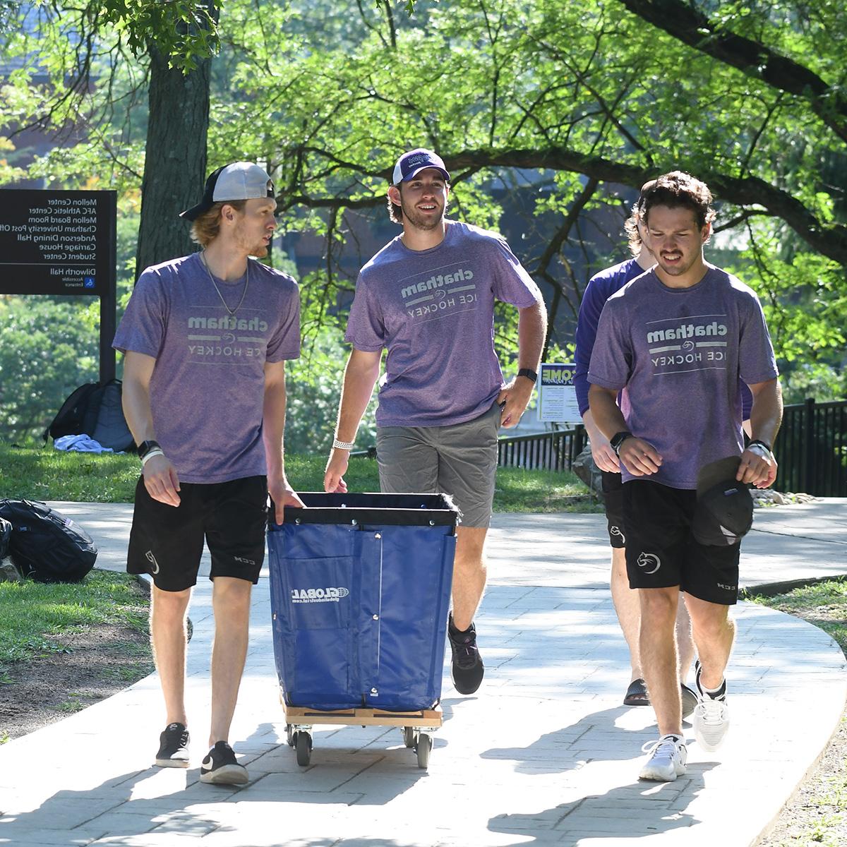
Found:
[[0, 518], [12, 525], [12, 563], [36, 582], [80, 582], [97, 561], [91, 535], [45, 503], [0, 500]]

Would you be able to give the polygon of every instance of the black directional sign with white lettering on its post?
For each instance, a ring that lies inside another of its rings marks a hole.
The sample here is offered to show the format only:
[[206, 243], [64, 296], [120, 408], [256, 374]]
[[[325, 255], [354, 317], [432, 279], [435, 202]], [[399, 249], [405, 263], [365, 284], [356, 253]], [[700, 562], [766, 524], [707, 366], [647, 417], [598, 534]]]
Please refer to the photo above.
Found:
[[100, 381], [114, 379], [116, 191], [0, 190], [0, 294], [100, 298]]

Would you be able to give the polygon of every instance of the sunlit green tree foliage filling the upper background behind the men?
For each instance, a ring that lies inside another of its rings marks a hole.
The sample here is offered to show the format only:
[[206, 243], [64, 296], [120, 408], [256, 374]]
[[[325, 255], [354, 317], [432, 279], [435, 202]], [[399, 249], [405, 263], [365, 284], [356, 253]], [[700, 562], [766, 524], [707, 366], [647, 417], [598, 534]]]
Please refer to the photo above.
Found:
[[[280, 230], [324, 240], [319, 268], [301, 280], [312, 352], [290, 368], [296, 450], [322, 450], [331, 435], [346, 358], [343, 304], [355, 268], [381, 246], [359, 239], [369, 222], [385, 219], [396, 156], [418, 145], [448, 161], [452, 215], [494, 229], [503, 208], [520, 216], [511, 222], [519, 233], [512, 248], [561, 295], [553, 340], [562, 347], [590, 274], [626, 255], [620, 224], [633, 190], [664, 170], [709, 174], [726, 246], [708, 247], [707, 257], [720, 257], [761, 297], [787, 395], [844, 396], [847, 285], [825, 255], [844, 239], [847, 221], [847, 150], [833, 129], [844, 115], [847, 11], [828, 0], [690, 5], [712, 31], [753, 39], [808, 69], [825, 93], [791, 93], [790, 80], [718, 61], [624, 3], [418, 0], [411, 14], [402, 0], [87, 0], [40, 3], [28, 25], [18, 17], [0, 36], [8, 58], [38, 57], [4, 81], [0, 128], [37, 121], [85, 130], [82, 143], [55, 148], [30, 174], [48, 185], [119, 189], [125, 302], [141, 201], [144, 53], [155, 42], [184, 69], [217, 53], [209, 168], [235, 158], [265, 163]], [[13, 7], [0, 3], [5, 14], [23, 14]], [[18, 175], [17, 152], [5, 153], [0, 181]], [[584, 197], [589, 175], [598, 185]], [[819, 252], [803, 241], [810, 238]], [[507, 368], [514, 317], [498, 311]], [[26, 403], [36, 402], [30, 392]], [[53, 408], [53, 396], [40, 402]], [[299, 423], [307, 415], [311, 436]], [[372, 427], [368, 419], [362, 441]]]

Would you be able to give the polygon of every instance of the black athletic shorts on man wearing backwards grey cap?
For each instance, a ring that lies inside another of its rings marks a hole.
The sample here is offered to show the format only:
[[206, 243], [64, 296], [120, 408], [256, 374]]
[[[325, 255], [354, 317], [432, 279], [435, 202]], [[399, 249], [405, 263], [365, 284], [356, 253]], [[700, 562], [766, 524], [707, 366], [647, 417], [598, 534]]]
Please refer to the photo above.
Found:
[[197, 584], [205, 539], [212, 554], [209, 579], [236, 577], [256, 584], [264, 561], [268, 479], [180, 483], [180, 505], [153, 500], [144, 479], [136, 485], [127, 573], [149, 573], [163, 591]]

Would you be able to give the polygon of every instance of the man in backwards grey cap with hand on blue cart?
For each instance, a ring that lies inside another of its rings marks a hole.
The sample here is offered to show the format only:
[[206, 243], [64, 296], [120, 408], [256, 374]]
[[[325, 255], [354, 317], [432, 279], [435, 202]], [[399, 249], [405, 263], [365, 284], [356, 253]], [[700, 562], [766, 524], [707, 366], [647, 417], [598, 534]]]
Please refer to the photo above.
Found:
[[150, 631], [167, 727], [156, 764], [188, 767], [185, 614], [203, 542], [212, 558], [212, 715], [202, 782], [241, 785], [229, 744], [247, 649], [250, 594], [275, 518], [302, 506], [285, 479], [285, 360], [299, 356], [290, 276], [252, 259], [274, 235], [274, 184], [256, 164], [210, 174], [182, 213], [201, 252], [147, 268], [113, 346], [125, 353], [124, 412], [141, 479], [127, 557], [152, 576]]

